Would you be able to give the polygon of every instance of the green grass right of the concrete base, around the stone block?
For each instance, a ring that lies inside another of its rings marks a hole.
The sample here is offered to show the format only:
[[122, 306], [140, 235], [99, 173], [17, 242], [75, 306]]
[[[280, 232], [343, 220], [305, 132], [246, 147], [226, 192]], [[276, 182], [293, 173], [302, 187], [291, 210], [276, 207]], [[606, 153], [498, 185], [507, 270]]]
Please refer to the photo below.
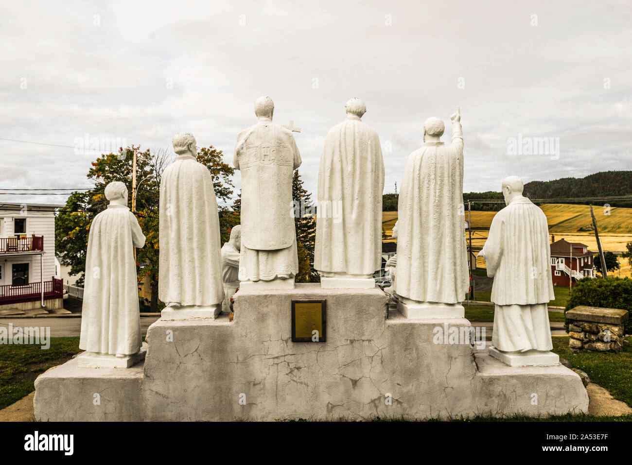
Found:
[[[628, 341], [631, 338], [628, 338]], [[612, 397], [632, 407], [632, 347], [623, 346], [618, 354], [579, 351], [571, 353], [568, 337], [554, 337], [553, 351], [574, 368], [586, 371], [590, 380], [609, 390]]]

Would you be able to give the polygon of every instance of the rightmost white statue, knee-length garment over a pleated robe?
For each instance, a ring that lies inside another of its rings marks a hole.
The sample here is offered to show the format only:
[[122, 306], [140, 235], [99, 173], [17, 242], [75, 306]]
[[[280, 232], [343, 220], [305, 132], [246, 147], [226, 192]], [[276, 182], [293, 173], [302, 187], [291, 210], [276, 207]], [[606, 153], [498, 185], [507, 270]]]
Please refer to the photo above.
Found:
[[[549, 227], [544, 212], [522, 196], [518, 176], [502, 181], [507, 206], [494, 216], [485, 246], [487, 275], [494, 277], [494, 332], [490, 354], [507, 365], [552, 365], [548, 303], [554, 299]], [[525, 358], [526, 357], [526, 358]]]

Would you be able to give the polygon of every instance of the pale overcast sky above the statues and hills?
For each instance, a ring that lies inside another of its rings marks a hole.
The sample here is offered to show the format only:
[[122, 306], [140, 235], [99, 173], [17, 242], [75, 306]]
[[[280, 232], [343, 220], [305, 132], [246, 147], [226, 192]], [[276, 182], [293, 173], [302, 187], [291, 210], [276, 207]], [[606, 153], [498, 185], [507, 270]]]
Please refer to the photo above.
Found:
[[[601, 1], [5, 2], [0, 138], [171, 147], [190, 131], [232, 164], [253, 102], [295, 133], [308, 190], [329, 128], [360, 97], [379, 133], [385, 192], [423, 121], [461, 107], [465, 191], [632, 169], [632, 6]], [[509, 138], [559, 138], [511, 155]], [[80, 188], [98, 152], [0, 140], [0, 188]], [[239, 172], [235, 183], [241, 184]], [[0, 195], [6, 202], [65, 196]]]

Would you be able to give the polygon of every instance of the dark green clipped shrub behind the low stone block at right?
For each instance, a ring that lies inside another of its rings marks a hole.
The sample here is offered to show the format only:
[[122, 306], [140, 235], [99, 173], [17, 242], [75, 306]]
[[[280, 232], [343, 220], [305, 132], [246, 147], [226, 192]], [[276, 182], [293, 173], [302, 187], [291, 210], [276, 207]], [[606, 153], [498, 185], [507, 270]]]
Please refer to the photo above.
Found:
[[[632, 313], [632, 279], [609, 277], [607, 279], [584, 278], [573, 286], [566, 303], [566, 311], [578, 305], [603, 308], [621, 308]], [[568, 331], [568, 320], [564, 320]], [[632, 321], [628, 317], [626, 334], [632, 334]]]

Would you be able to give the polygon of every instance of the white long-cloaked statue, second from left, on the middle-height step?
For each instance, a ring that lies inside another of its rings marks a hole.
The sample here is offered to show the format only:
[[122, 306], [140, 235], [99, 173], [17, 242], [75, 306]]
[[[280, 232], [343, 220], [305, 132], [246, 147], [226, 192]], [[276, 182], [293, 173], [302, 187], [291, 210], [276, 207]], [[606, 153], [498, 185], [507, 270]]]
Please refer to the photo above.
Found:
[[190, 133], [173, 136], [175, 162], [160, 186], [158, 298], [163, 320], [215, 318], [222, 310], [219, 215], [209, 169]]

